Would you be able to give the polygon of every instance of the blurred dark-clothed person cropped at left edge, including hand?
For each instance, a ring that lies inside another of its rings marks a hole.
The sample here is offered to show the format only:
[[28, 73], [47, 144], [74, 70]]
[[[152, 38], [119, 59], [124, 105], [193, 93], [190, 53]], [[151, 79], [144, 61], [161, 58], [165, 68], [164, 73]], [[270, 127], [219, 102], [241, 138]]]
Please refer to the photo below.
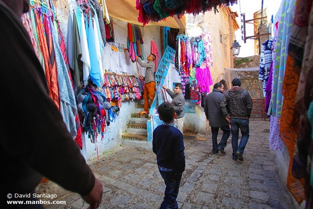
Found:
[[0, 0], [4, 78], [0, 86], [3, 97], [9, 98], [1, 113], [0, 208], [43, 208], [8, 202], [39, 202], [33, 194], [43, 176], [79, 193], [90, 208], [97, 208], [102, 185], [49, 97], [44, 71], [21, 21], [28, 8], [28, 0]]

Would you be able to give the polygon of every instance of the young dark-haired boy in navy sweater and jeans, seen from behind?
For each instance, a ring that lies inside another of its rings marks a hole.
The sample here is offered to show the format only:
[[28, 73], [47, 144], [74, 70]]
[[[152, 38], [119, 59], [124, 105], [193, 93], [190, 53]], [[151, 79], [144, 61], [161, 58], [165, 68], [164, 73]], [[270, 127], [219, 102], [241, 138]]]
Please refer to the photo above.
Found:
[[153, 131], [152, 150], [156, 154], [157, 165], [166, 185], [160, 208], [178, 208], [176, 198], [182, 172], [185, 170], [184, 141], [182, 133], [173, 124], [173, 105], [163, 102], [158, 112], [164, 123]]

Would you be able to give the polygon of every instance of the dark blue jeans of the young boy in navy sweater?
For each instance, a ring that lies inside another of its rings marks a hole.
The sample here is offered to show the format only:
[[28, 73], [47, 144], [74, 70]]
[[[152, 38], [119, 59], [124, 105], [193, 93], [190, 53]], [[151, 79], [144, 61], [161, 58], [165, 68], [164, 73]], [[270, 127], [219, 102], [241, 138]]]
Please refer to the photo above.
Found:
[[178, 205], [176, 198], [178, 195], [180, 180], [182, 179], [182, 173], [177, 170], [162, 171], [159, 169], [159, 171], [166, 185], [164, 192], [165, 196], [160, 209], [177, 209]]

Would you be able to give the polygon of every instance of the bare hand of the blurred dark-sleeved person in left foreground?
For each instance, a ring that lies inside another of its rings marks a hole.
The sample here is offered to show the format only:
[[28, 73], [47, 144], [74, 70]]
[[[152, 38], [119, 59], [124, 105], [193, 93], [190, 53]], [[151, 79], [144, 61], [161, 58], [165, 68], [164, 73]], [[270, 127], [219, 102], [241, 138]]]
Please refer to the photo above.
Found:
[[102, 184], [98, 179], [95, 179], [94, 188], [92, 188], [87, 195], [82, 196], [83, 199], [90, 204], [88, 209], [95, 209], [99, 207], [102, 199], [102, 193]]

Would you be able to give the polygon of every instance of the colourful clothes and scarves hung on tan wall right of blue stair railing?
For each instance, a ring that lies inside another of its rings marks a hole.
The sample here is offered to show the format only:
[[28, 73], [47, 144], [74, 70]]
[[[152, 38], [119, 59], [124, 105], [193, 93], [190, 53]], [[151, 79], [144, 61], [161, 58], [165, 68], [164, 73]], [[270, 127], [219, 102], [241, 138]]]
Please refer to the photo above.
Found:
[[[199, 37], [177, 35], [175, 67], [181, 74], [185, 99], [201, 103], [201, 93], [209, 93], [213, 85], [210, 67], [213, 66], [211, 34], [203, 30]], [[186, 91], [186, 86], [188, 89]], [[190, 95], [186, 95], [186, 92]]]

